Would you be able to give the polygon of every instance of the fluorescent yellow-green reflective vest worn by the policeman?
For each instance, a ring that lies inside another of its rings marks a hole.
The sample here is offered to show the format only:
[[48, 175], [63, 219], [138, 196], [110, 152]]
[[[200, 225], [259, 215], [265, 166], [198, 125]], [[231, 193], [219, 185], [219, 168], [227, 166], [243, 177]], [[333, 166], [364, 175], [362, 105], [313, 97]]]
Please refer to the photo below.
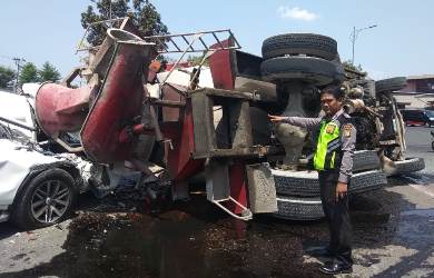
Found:
[[341, 147], [339, 123], [323, 120], [314, 155], [315, 170], [331, 170], [335, 168], [336, 152]]

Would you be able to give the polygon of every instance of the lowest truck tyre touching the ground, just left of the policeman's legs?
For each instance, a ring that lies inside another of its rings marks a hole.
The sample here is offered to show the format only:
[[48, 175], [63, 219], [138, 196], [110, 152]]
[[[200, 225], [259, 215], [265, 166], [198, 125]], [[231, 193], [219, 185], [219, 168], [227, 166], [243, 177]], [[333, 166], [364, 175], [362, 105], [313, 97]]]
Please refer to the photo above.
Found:
[[297, 198], [277, 196], [277, 212], [273, 217], [286, 220], [317, 220], [324, 217], [319, 197]]

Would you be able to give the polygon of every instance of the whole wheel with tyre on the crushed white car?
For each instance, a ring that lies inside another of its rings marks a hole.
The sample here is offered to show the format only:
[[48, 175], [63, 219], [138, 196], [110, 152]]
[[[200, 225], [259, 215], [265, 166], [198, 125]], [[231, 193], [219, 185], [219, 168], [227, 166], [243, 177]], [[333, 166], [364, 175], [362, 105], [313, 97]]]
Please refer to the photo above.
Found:
[[77, 195], [75, 180], [67, 171], [45, 170], [17, 195], [12, 221], [24, 229], [60, 222], [71, 212]]

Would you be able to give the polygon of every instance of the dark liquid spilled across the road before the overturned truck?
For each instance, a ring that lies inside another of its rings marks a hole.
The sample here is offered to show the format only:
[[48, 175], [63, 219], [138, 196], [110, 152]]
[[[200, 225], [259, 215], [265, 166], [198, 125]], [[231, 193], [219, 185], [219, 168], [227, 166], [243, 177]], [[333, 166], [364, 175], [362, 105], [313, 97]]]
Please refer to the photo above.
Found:
[[[411, 211], [411, 203], [393, 192], [355, 198], [354, 247], [382, 247], [405, 237], [417, 241], [414, 230], [405, 230], [413, 218], [401, 216], [403, 208]], [[243, 222], [199, 196], [157, 216], [82, 212], [70, 225], [65, 252], [0, 277], [323, 277], [319, 262], [306, 256], [327, 240], [325, 221], [257, 217]], [[358, 262], [368, 267], [377, 258]]]

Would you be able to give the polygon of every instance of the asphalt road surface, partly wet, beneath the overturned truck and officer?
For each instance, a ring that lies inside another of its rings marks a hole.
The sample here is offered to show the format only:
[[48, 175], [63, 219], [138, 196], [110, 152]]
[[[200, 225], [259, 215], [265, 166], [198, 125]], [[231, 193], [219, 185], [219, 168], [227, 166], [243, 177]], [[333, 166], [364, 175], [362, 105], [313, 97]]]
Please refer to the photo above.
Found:
[[[434, 276], [434, 152], [428, 128], [408, 128], [420, 173], [352, 200], [354, 274]], [[131, 212], [132, 210], [132, 212]], [[55, 227], [0, 224], [1, 277], [323, 277], [310, 256], [327, 242], [324, 221], [229, 219], [201, 195], [158, 216], [135, 205], [81, 197], [79, 214]]]

